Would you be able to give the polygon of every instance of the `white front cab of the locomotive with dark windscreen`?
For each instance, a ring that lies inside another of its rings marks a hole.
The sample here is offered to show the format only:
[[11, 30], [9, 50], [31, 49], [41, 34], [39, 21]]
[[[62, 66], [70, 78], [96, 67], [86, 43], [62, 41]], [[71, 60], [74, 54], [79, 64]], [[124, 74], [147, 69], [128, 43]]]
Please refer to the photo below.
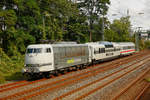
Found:
[[23, 73], [36, 74], [48, 72], [53, 68], [53, 50], [51, 45], [29, 45], [25, 54], [25, 67]]

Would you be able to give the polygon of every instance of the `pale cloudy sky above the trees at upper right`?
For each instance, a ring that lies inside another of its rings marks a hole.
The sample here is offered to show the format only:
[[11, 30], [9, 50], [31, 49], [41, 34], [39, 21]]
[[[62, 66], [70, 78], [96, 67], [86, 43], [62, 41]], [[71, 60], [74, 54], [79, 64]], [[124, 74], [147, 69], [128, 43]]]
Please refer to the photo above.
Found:
[[[129, 11], [130, 21], [134, 30], [142, 27], [142, 30], [150, 29], [150, 0], [110, 0], [108, 18], [114, 19], [127, 16]], [[141, 14], [140, 14], [141, 13]]]

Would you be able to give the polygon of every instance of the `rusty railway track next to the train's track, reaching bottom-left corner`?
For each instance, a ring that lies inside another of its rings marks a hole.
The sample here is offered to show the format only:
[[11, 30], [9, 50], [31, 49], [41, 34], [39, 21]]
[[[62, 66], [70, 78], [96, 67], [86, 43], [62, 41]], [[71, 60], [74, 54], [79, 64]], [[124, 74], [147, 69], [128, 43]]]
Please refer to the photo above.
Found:
[[[147, 53], [145, 53], [147, 54]], [[70, 76], [70, 77], [67, 77], [67, 78], [64, 78], [64, 79], [61, 79], [61, 80], [58, 80], [58, 81], [55, 81], [55, 82], [51, 82], [51, 83], [48, 83], [48, 84], [45, 84], [45, 85], [42, 85], [42, 86], [39, 86], [39, 87], [36, 87], [36, 88], [32, 88], [32, 89], [29, 89], [29, 90], [25, 90], [25, 91], [22, 91], [22, 92], [18, 92], [18, 93], [15, 93], [13, 95], [9, 95], [9, 96], [6, 96], [6, 97], [3, 97], [3, 98], [0, 98], [0, 99], [14, 99], [17, 97], [17, 99], [28, 99], [28, 98], [31, 98], [33, 96], [37, 96], [37, 95], [40, 95], [40, 94], [43, 94], [45, 92], [48, 92], [49, 90], [55, 90], [57, 88], [61, 88], [63, 86], [66, 86], [67, 84], [70, 84], [70, 83], [75, 83], [76, 81], [78, 81], [79, 79], [85, 79], [85, 78], [88, 78], [89, 76], [93, 76], [93, 75], [96, 75], [100, 72], [103, 72], [103, 71], [106, 71], [106, 70], [109, 70], [109, 69], [112, 69], [112, 68], [115, 68], [119, 65], [123, 65], [127, 62], [129, 62], [131, 59], [132, 60], [135, 60], [137, 59], [137, 57], [140, 57], [140, 56], [144, 56], [143, 54], [139, 54], [139, 55], [136, 55], [136, 56], [133, 56], [133, 58], [129, 58], [129, 59], [124, 59], [126, 61], [122, 62], [121, 64], [118, 63], [120, 62], [121, 60], [118, 60], [118, 62], [112, 62], [113, 65], [107, 65], [107, 66], [104, 66], [104, 67], [98, 67], [98, 66], [95, 66], [95, 67], [90, 67], [90, 70], [87, 71], [87, 72], [84, 72], [84, 73], [79, 73], [77, 74], [76, 76]], [[135, 58], [134, 58], [135, 57]], [[75, 77], [79, 77], [78, 79], [73, 80]], [[82, 77], [81, 77], [82, 76]], [[37, 80], [37, 82], [39, 81], [43, 81], [45, 79], [42, 79], [42, 80]], [[64, 82], [65, 81], [65, 82]], [[64, 83], [63, 83], [64, 82]], [[25, 82], [25, 84], [33, 84], [33, 83], [36, 83], [36, 81], [33, 81], [33, 82]], [[56, 84], [56, 86], [54, 85]], [[49, 87], [50, 85], [54, 85], [52, 87]], [[25, 85], [19, 85], [19, 86], [25, 86]], [[49, 88], [48, 88], [49, 87]], [[17, 87], [18, 88], [18, 87]], [[48, 89], [47, 89], [48, 88]], [[6, 89], [5, 89], [6, 90]], [[39, 92], [40, 90], [40, 92]], [[37, 92], [38, 91], [38, 92]], [[3, 91], [2, 91], [3, 92]], [[35, 93], [34, 93], [35, 92]], [[32, 93], [31, 95], [27, 95], [28, 93]], [[21, 98], [20, 98], [21, 96]], [[24, 96], [24, 97], [23, 97]], [[19, 97], [19, 98], [18, 98]]]

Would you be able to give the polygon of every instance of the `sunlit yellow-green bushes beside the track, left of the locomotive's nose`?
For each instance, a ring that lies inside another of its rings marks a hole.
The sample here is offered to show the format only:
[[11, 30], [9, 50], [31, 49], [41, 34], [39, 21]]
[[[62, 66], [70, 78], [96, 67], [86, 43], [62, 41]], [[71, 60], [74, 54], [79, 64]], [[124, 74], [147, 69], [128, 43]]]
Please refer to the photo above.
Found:
[[0, 83], [22, 79], [21, 69], [24, 57], [18, 54], [10, 58], [3, 52], [2, 48], [0, 48], [0, 54]]

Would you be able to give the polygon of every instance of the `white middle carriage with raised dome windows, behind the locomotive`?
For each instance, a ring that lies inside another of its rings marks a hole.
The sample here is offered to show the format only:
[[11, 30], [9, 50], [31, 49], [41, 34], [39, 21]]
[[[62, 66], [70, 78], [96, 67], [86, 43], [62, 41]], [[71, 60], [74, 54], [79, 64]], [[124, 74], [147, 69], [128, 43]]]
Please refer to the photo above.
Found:
[[120, 56], [120, 45], [116, 43], [92, 42], [86, 44], [88, 44], [90, 48], [90, 56], [94, 62], [110, 60]]

